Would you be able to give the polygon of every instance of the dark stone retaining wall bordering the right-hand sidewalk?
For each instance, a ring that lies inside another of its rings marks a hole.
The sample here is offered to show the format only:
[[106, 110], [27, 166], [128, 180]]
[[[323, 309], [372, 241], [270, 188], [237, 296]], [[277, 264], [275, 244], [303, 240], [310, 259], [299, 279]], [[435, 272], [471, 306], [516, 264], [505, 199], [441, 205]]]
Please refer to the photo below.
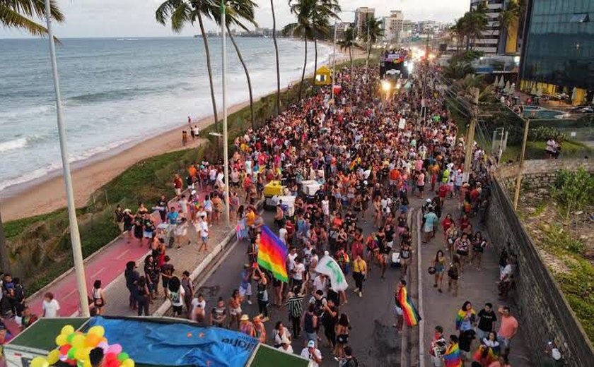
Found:
[[[549, 179], [557, 169], [581, 166], [594, 172], [593, 162], [587, 160], [529, 160], [525, 162], [525, 174], [530, 181], [538, 177]], [[502, 182], [513, 180], [517, 169], [517, 165], [502, 166], [494, 175], [487, 228], [494, 246], [499, 250], [507, 247], [517, 259], [516, 289], [512, 294], [516, 296], [518, 309], [512, 309], [512, 313], [520, 316], [520, 327], [530, 335], [526, 342], [532, 351], [532, 365], [544, 365], [546, 354], [542, 351], [547, 342], [553, 341], [561, 350], [566, 366], [593, 366], [594, 351], [588, 337], [520, 223], [503, 187]]]

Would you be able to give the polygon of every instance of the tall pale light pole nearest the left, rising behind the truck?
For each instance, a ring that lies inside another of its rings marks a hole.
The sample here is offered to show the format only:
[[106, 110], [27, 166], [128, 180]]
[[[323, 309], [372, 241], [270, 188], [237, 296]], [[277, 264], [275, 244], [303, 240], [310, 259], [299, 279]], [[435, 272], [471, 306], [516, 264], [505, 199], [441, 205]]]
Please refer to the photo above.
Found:
[[76, 207], [74, 206], [74, 191], [72, 178], [70, 176], [70, 163], [68, 162], [68, 146], [66, 144], [66, 127], [62, 116], [62, 98], [60, 97], [60, 82], [58, 78], [58, 65], [56, 61], [56, 47], [54, 44], [54, 32], [52, 30], [52, 9], [50, 0], [45, 0], [45, 18], [47, 21], [47, 39], [50, 41], [50, 59], [52, 61], [52, 77], [54, 79], [54, 92], [56, 95], [56, 112], [58, 123], [58, 135], [60, 139], [60, 154], [62, 155], [62, 169], [64, 170], [64, 184], [66, 186], [66, 200], [68, 201], [68, 220], [70, 222], [70, 241], [72, 243], [72, 256], [74, 257], [74, 272], [76, 274], [76, 285], [78, 289], [78, 301], [81, 303], [81, 315], [88, 318], [87, 289], [85, 270], [83, 263], [83, 251], [81, 249], [81, 235], [78, 233], [78, 222], [76, 220]]

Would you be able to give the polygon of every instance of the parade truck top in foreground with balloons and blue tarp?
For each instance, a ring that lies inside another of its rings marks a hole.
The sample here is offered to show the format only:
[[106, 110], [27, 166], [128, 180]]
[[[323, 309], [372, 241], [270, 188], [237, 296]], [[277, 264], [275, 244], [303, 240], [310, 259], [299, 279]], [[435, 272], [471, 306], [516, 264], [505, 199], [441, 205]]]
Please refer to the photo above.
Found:
[[[75, 347], [79, 350], [74, 351]], [[105, 367], [313, 365], [233, 330], [176, 318], [110, 316], [40, 318], [4, 345], [4, 363], [7, 367], [91, 366], [85, 358], [96, 347], [105, 351]], [[110, 359], [110, 354], [115, 356]]]

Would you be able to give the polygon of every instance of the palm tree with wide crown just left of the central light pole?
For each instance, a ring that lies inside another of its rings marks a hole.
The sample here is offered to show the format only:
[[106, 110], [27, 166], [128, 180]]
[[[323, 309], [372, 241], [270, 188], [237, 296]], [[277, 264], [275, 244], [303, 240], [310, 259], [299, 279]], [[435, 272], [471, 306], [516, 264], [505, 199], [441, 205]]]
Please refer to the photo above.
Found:
[[155, 11], [155, 18], [158, 23], [165, 25], [167, 20], [171, 21], [173, 32], [181, 32], [187, 23], [192, 25], [196, 20], [200, 27], [202, 40], [204, 41], [204, 52], [206, 53], [206, 68], [209, 72], [209, 83], [211, 90], [212, 110], [214, 113], [214, 128], [219, 131], [219, 113], [216, 110], [216, 100], [214, 98], [214, 83], [212, 80], [212, 66], [209, 50], [209, 40], [204, 30], [203, 16], [212, 18], [214, 13], [219, 11], [219, 6], [209, 0], [165, 0]]

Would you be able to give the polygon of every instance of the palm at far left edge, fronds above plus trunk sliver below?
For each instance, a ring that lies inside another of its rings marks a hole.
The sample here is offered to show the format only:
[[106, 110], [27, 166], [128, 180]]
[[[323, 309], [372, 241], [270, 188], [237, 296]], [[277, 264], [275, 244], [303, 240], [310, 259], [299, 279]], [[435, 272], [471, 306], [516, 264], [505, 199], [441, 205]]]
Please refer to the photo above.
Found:
[[[31, 35], [47, 35], [47, 28], [31, 20], [32, 17], [45, 18], [45, 1], [39, 0], [0, 0], [0, 24], [6, 28], [25, 30]], [[50, 14], [58, 23], [64, 22], [64, 14], [60, 11], [55, 1], [50, 1]], [[11, 271], [11, 262], [8, 255], [6, 234], [0, 214], [0, 266], [4, 272]]]

